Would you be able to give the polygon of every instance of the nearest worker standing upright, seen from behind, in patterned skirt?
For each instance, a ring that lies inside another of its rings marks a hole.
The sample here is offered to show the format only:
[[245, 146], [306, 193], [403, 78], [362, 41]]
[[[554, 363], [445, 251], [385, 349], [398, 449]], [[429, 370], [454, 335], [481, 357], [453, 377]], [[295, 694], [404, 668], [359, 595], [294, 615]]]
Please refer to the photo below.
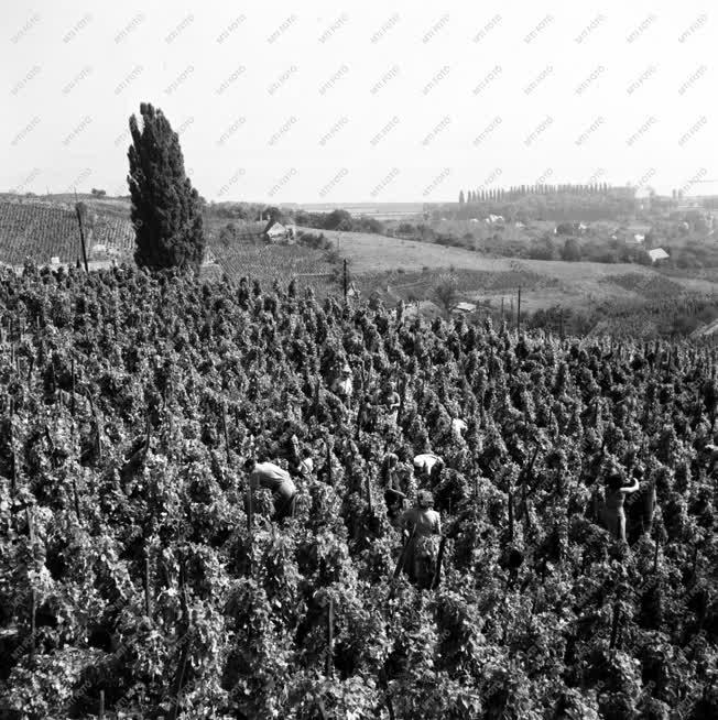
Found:
[[[434, 498], [427, 490], [420, 490], [416, 506], [404, 511], [400, 526], [409, 539], [404, 548], [403, 570], [412, 582], [431, 586], [434, 577], [437, 541], [442, 534], [442, 519], [432, 509]], [[413, 532], [413, 536], [412, 536]]]

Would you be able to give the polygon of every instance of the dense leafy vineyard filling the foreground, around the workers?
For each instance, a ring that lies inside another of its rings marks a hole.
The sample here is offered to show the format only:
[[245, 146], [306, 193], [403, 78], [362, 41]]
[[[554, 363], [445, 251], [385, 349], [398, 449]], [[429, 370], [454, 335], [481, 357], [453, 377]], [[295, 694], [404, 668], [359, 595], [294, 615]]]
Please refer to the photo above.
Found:
[[[0, 717], [715, 719], [715, 374], [294, 285], [8, 272]], [[243, 460], [294, 440], [314, 470], [272, 522]], [[596, 514], [617, 472], [628, 542]], [[392, 473], [440, 513], [429, 586]]]

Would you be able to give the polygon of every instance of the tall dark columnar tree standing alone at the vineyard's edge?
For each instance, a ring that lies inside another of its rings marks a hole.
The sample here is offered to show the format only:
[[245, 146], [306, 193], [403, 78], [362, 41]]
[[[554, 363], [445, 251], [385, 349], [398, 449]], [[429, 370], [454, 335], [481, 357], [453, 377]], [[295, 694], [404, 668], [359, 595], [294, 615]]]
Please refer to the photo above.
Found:
[[128, 184], [135, 231], [134, 261], [150, 270], [198, 270], [205, 251], [202, 203], [185, 175], [180, 138], [162, 110], [140, 105], [130, 118]]

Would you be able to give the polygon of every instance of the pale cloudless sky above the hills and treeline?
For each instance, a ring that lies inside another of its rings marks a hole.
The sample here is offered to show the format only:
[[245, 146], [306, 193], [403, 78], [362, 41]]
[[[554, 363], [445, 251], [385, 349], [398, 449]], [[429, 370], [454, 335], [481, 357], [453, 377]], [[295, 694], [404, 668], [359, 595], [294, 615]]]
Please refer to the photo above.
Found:
[[714, 3], [15, 0], [0, 189], [127, 194], [128, 119], [148, 101], [208, 200], [700, 194], [718, 179]]

